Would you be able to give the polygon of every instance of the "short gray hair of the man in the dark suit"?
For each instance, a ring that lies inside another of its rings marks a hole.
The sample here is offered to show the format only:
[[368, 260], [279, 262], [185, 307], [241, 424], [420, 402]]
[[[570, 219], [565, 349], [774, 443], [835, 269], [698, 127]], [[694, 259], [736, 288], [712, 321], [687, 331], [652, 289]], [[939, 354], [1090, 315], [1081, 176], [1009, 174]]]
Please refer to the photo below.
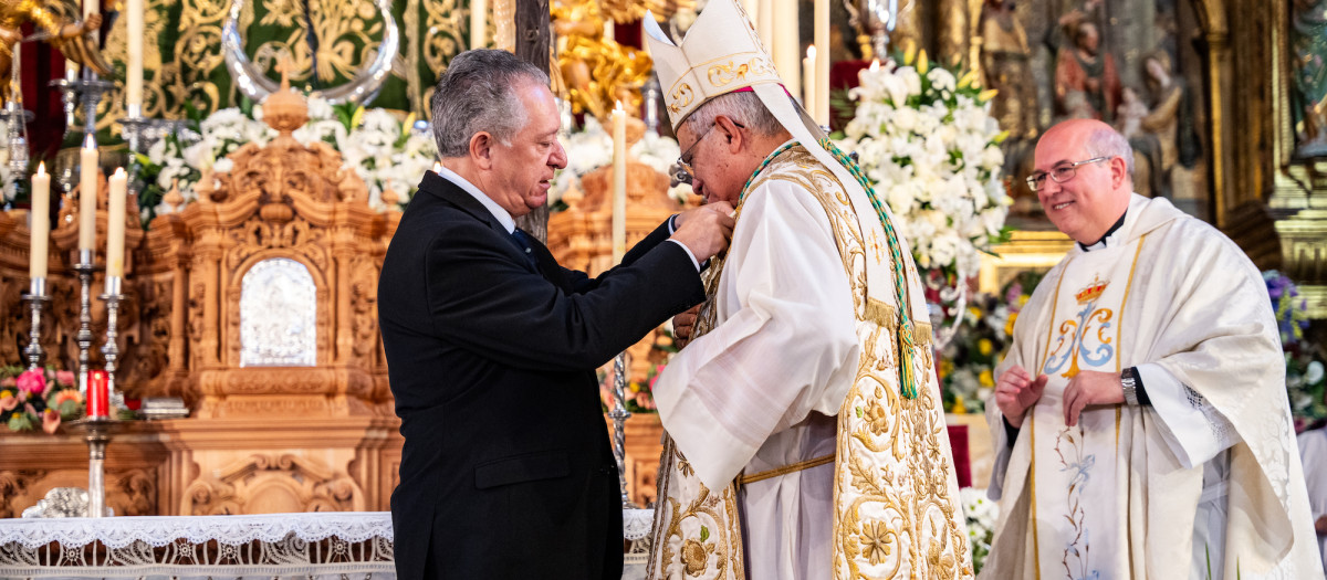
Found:
[[470, 155], [470, 138], [479, 131], [510, 144], [527, 122], [525, 107], [515, 91], [527, 82], [548, 86], [548, 75], [507, 50], [456, 54], [438, 77], [429, 103], [438, 156]]

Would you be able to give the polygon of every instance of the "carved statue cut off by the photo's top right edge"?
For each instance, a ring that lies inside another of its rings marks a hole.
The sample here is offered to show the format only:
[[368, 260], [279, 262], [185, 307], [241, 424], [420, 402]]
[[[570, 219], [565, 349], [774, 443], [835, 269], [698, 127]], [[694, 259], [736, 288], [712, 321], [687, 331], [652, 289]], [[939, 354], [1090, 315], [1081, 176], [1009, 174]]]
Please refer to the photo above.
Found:
[[1295, 156], [1327, 156], [1327, 0], [1292, 0]]

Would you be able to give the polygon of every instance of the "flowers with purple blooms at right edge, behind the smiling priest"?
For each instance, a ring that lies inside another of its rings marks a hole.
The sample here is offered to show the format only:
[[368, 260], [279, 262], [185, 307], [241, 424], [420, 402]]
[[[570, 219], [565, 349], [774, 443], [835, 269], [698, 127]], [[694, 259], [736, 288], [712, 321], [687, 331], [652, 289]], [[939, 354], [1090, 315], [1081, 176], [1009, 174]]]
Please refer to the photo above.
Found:
[[1327, 380], [1322, 354], [1315, 346], [1304, 342], [1308, 328], [1308, 305], [1299, 297], [1299, 286], [1277, 270], [1262, 273], [1267, 283], [1267, 298], [1271, 310], [1277, 313], [1277, 326], [1281, 328], [1281, 348], [1286, 351], [1286, 395], [1290, 399], [1290, 414], [1295, 418], [1295, 430], [1311, 429], [1327, 418]]

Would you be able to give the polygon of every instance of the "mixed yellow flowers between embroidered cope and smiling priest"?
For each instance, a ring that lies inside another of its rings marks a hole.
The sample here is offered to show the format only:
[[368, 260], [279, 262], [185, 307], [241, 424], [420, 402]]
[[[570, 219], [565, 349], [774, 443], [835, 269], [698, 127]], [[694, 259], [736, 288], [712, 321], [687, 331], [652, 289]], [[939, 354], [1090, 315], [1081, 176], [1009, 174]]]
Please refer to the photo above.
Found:
[[986, 408], [995, 367], [1013, 343], [1014, 320], [1040, 279], [1040, 273], [1023, 271], [999, 295], [978, 294], [969, 302], [958, 332], [941, 351], [945, 411], [981, 413]]

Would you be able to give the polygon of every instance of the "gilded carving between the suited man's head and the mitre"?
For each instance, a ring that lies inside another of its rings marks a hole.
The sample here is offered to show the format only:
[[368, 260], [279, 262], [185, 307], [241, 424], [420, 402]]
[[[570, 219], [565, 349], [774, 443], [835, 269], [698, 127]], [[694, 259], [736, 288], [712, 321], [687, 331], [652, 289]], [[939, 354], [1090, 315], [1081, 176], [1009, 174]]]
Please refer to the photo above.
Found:
[[654, 66], [649, 54], [604, 38], [598, 0], [556, 0], [549, 12], [559, 36], [557, 69], [575, 111], [606, 124], [621, 101], [622, 109], [638, 115], [640, 89]]

